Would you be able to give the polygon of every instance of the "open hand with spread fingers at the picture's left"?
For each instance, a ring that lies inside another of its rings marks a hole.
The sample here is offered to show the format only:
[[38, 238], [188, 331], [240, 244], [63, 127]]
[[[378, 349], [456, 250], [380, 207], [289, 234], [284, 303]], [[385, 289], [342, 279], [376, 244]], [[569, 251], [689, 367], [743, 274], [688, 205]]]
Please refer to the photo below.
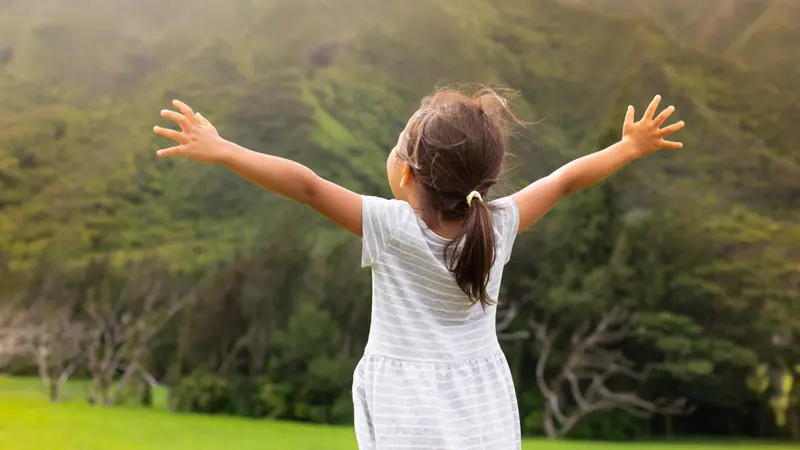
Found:
[[158, 156], [185, 156], [198, 162], [218, 163], [224, 159], [227, 146], [217, 133], [217, 129], [200, 113], [195, 113], [185, 103], [173, 100], [181, 112], [163, 110], [161, 116], [170, 119], [181, 127], [181, 131], [169, 128], [154, 127], [153, 131], [159, 136], [172, 139], [178, 144], [175, 147], [158, 151]]

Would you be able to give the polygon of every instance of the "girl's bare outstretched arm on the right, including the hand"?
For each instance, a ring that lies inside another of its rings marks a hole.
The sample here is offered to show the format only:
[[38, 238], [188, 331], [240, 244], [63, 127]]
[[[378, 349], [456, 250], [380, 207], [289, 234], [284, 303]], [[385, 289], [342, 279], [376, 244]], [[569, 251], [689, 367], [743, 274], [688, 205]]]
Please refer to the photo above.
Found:
[[683, 128], [683, 122], [661, 128], [675, 108], [670, 106], [654, 118], [660, 101], [657, 95], [638, 122], [633, 121], [633, 106], [628, 106], [619, 142], [578, 158], [514, 194], [512, 198], [519, 208], [519, 232], [536, 223], [564, 197], [605, 179], [631, 161], [659, 149], [681, 148], [683, 144], [664, 138]]

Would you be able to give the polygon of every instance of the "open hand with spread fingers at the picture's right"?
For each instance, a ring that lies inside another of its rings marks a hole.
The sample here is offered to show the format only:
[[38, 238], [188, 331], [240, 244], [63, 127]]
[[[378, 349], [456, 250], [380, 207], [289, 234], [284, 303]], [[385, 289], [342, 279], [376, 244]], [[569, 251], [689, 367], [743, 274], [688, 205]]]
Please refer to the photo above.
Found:
[[649, 155], [664, 148], [683, 147], [683, 144], [680, 142], [664, 140], [665, 137], [683, 128], [683, 121], [660, 128], [670, 114], [675, 111], [674, 106], [668, 107], [664, 111], [661, 111], [658, 117], [653, 118], [660, 101], [661, 96], [656, 95], [653, 101], [650, 102], [650, 106], [647, 107], [644, 117], [638, 122], [633, 121], [633, 106], [628, 106], [628, 113], [625, 115], [625, 124], [622, 127], [622, 140], [628, 142], [632, 148], [635, 149], [637, 157]]

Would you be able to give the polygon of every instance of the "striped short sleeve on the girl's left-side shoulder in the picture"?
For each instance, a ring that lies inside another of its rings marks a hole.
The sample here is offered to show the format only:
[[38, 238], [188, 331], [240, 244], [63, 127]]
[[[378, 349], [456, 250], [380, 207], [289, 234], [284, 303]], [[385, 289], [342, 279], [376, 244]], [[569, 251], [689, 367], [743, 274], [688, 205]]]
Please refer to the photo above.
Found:
[[400, 200], [361, 196], [361, 267], [378, 261], [409, 211], [408, 203]]

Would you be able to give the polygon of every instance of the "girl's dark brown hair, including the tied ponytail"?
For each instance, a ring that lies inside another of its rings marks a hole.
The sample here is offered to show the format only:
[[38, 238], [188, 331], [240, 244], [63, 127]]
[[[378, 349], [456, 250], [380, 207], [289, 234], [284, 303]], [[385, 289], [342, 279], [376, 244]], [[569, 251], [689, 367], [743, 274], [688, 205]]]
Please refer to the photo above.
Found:
[[[422, 100], [406, 130], [405, 148], [398, 149], [424, 186], [429, 210], [439, 220], [462, 220], [445, 251], [447, 268], [473, 304], [484, 309], [495, 303], [486, 288], [497, 256], [487, 195], [503, 172], [509, 121], [522, 124], [495, 90], [467, 95], [442, 89]], [[472, 191], [483, 200], [473, 198], [470, 206]]]

